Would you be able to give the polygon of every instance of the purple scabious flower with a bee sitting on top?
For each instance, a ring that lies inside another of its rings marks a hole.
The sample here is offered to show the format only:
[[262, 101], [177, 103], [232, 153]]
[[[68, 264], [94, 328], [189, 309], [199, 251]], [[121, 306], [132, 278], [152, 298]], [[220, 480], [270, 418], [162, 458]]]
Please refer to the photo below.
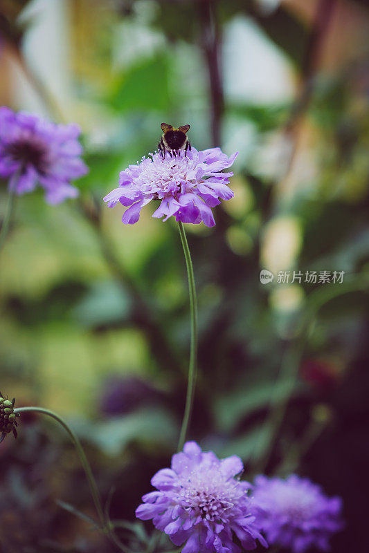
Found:
[[233, 173], [222, 173], [231, 167], [237, 153], [228, 158], [220, 148], [187, 152], [170, 156], [165, 153], [150, 154], [137, 165], [129, 165], [120, 172], [119, 187], [115, 188], [104, 201], [109, 207], [120, 202], [126, 209], [122, 221], [132, 225], [140, 218], [141, 208], [151, 200], [160, 200], [153, 217], [164, 217], [167, 221], [175, 216], [183, 223], [201, 223], [207, 227], [215, 225], [211, 207], [222, 200], [233, 198], [228, 187]]

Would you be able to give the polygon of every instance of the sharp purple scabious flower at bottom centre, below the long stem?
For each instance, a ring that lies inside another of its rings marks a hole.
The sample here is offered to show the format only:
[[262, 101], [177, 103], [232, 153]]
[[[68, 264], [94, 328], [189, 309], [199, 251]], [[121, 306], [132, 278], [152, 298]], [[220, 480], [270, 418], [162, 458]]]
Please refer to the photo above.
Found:
[[251, 485], [235, 478], [243, 469], [235, 455], [219, 460], [187, 442], [172, 467], [154, 475], [157, 491], [143, 496], [136, 516], [152, 518], [175, 545], [186, 542], [182, 553], [240, 553], [235, 536], [245, 550], [254, 549], [256, 539], [267, 546], [251, 512]]

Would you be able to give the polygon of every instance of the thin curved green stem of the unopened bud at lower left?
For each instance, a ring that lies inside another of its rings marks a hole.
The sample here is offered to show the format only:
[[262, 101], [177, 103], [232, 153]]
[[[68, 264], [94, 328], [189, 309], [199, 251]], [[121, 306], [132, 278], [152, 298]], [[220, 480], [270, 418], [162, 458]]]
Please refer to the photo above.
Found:
[[15, 413], [42, 413], [43, 415], [48, 415], [48, 417], [51, 417], [55, 419], [57, 422], [59, 422], [59, 424], [61, 424], [62, 427], [66, 430], [66, 432], [69, 434], [69, 438], [71, 438], [73, 442], [73, 445], [82, 463], [82, 467], [87, 476], [87, 480], [89, 481], [91, 496], [93, 498], [93, 503], [95, 503], [96, 511], [98, 512], [98, 517], [100, 519], [102, 529], [105, 529], [106, 521], [105, 521], [104, 511], [101, 505], [100, 495], [98, 492], [98, 486], [96, 485], [96, 480], [93, 477], [89, 461], [87, 460], [86, 454], [84, 453], [81, 442], [78, 439], [78, 436], [75, 434], [75, 432], [71, 428], [69, 428], [68, 424], [66, 424], [66, 422], [59, 415], [57, 415], [56, 413], [53, 413], [53, 411], [44, 409], [43, 407], [19, 407], [14, 411]]

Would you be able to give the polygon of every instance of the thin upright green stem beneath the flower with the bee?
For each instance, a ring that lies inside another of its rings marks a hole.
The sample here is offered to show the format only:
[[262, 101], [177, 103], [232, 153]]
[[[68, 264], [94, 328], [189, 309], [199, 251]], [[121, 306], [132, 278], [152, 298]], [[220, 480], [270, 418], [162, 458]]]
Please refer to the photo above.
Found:
[[195, 394], [196, 383], [196, 362], [197, 362], [197, 298], [195, 288], [195, 277], [193, 274], [190, 248], [186, 238], [186, 232], [183, 223], [179, 221], [179, 236], [183, 246], [183, 253], [186, 259], [186, 269], [188, 276], [188, 290], [190, 292], [190, 312], [191, 312], [191, 346], [190, 346], [190, 364], [188, 366], [188, 385], [186, 395], [186, 407], [183, 414], [181, 433], [179, 435], [178, 451], [181, 451], [186, 441], [188, 426], [190, 424], [193, 398]]

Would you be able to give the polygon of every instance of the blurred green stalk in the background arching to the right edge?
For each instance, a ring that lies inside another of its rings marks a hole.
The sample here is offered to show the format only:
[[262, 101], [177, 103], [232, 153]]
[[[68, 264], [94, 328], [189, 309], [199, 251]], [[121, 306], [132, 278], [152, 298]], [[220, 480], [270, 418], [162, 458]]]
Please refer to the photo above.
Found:
[[[258, 471], [264, 472], [269, 462], [278, 432], [280, 431], [282, 422], [285, 419], [289, 400], [294, 391], [294, 386], [298, 376], [298, 369], [305, 350], [307, 337], [309, 336], [309, 331], [314, 323], [314, 319], [318, 314], [318, 311], [325, 306], [326, 303], [336, 297], [349, 294], [350, 292], [365, 290], [369, 290], [368, 277], [357, 277], [344, 284], [334, 285], [332, 288], [321, 288], [315, 290], [308, 297], [305, 317], [303, 318], [296, 338], [291, 342], [291, 346], [286, 350], [286, 353], [282, 359], [280, 374], [278, 375], [274, 392], [271, 397], [269, 413], [262, 427], [261, 435], [268, 435], [269, 443], [262, 460], [260, 463], [255, 464], [255, 468], [257, 468]], [[287, 388], [287, 393], [284, 399], [278, 402], [276, 398], [280, 397], [280, 388]], [[257, 454], [258, 447], [255, 448], [255, 455]]]

